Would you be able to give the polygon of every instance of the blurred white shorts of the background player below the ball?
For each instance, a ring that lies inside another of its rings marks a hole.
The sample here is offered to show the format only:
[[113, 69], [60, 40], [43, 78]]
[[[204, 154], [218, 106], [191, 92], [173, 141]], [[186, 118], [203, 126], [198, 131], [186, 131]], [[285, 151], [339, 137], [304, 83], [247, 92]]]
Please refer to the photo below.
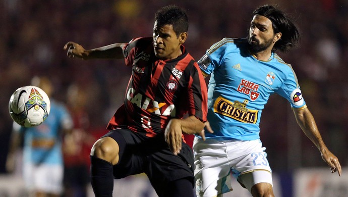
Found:
[[62, 165], [26, 163], [23, 167], [24, 180], [29, 190], [54, 194], [63, 192], [64, 169]]

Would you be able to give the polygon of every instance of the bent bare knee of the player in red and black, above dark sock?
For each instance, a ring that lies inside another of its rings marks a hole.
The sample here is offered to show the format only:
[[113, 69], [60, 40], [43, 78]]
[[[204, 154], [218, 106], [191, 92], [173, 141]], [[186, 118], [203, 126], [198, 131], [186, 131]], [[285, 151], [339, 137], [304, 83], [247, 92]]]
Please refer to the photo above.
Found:
[[91, 155], [114, 165], [118, 162], [119, 145], [110, 137], [100, 138], [93, 144]]

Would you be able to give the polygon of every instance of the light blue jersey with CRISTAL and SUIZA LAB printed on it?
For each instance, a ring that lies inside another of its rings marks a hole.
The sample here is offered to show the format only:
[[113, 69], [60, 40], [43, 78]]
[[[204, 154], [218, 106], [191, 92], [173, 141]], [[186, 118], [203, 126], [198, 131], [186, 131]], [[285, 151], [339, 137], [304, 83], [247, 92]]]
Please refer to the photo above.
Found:
[[198, 61], [208, 84], [207, 119], [214, 133], [207, 138], [259, 138], [261, 112], [277, 93], [293, 108], [306, 105], [294, 70], [277, 54], [259, 61], [247, 50], [247, 39], [223, 38]]

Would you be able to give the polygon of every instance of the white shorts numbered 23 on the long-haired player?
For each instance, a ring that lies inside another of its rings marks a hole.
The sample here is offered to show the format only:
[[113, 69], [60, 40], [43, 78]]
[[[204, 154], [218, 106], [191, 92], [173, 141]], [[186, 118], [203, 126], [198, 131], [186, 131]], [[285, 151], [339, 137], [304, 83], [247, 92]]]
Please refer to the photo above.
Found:
[[195, 137], [193, 150], [197, 196], [212, 197], [233, 190], [230, 174], [249, 191], [260, 182], [273, 184], [266, 148], [259, 139], [203, 141]]

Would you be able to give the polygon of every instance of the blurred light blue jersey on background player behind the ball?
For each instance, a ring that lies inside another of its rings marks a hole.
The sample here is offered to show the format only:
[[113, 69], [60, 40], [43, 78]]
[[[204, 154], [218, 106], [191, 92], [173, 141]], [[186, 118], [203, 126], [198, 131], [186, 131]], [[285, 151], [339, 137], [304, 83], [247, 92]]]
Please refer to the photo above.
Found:
[[61, 131], [72, 126], [67, 109], [51, 100], [50, 113], [42, 124], [30, 128], [17, 125], [17, 131], [24, 132], [23, 162], [63, 165]]

